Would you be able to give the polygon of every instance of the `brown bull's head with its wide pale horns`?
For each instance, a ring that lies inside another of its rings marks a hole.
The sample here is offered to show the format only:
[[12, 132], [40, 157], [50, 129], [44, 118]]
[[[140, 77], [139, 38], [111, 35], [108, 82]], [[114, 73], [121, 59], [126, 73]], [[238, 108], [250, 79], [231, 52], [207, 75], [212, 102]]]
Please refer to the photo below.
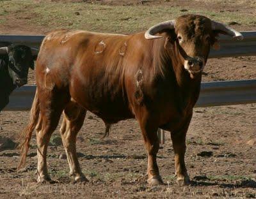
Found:
[[227, 34], [242, 40], [236, 30], [200, 15], [182, 15], [176, 20], [169, 20], [150, 27], [145, 33], [146, 39], [162, 38], [157, 33], [170, 33], [170, 41], [176, 42], [179, 57], [191, 77], [204, 70], [211, 47], [218, 46], [216, 36]]

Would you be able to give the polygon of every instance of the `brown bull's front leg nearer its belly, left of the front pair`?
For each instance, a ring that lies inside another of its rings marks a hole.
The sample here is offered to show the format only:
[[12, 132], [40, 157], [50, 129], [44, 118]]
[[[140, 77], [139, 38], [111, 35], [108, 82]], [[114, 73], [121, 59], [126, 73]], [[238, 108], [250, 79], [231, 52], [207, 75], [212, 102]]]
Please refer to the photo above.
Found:
[[159, 140], [157, 137], [157, 127], [152, 126], [154, 122], [148, 119], [141, 119], [140, 128], [145, 142], [145, 147], [148, 152], [148, 184], [156, 185], [163, 184], [163, 180], [159, 174], [156, 156], [159, 150]]

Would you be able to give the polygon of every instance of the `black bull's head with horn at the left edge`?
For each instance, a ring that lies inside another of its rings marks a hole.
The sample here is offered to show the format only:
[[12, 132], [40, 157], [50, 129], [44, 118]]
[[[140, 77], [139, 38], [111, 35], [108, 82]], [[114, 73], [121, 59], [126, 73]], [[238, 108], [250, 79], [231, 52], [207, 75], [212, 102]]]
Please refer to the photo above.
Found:
[[20, 87], [28, 82], [28, 69], [34, 70], [33, 51], [25, 45], [1, 47], [0, 54], [8, 55], [8, 71], [13, 85]]

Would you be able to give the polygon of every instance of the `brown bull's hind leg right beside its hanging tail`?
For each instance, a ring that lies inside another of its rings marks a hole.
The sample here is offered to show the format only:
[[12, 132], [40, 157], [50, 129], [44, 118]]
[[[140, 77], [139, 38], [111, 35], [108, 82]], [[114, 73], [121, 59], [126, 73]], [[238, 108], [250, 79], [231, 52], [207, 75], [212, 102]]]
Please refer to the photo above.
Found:
[[53, 131], [58, 126], [64, 106], [65, 99], [61, 94], [54, 91], [40, 92], [40, 118], [36, 126], [38, 182], [51, 181], [47, 171], [47, 146]]

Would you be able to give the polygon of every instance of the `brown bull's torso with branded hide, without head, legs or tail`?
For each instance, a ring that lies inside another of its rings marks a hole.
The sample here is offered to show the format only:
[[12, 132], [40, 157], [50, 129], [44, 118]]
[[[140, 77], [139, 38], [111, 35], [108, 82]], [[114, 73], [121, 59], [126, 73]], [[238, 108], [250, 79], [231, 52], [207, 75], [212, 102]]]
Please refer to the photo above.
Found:
[[145, 106], [161, 126], [192, 108], [200, 87], [200, 75], [192, 80], [182, 67], [177, 44], [165, 43], [166, 37], [145, 40], [144, 33], [53, 32], [38, 55], [38, 89], [65, 89], [67, 98], [108, 123], [132, 118]]

